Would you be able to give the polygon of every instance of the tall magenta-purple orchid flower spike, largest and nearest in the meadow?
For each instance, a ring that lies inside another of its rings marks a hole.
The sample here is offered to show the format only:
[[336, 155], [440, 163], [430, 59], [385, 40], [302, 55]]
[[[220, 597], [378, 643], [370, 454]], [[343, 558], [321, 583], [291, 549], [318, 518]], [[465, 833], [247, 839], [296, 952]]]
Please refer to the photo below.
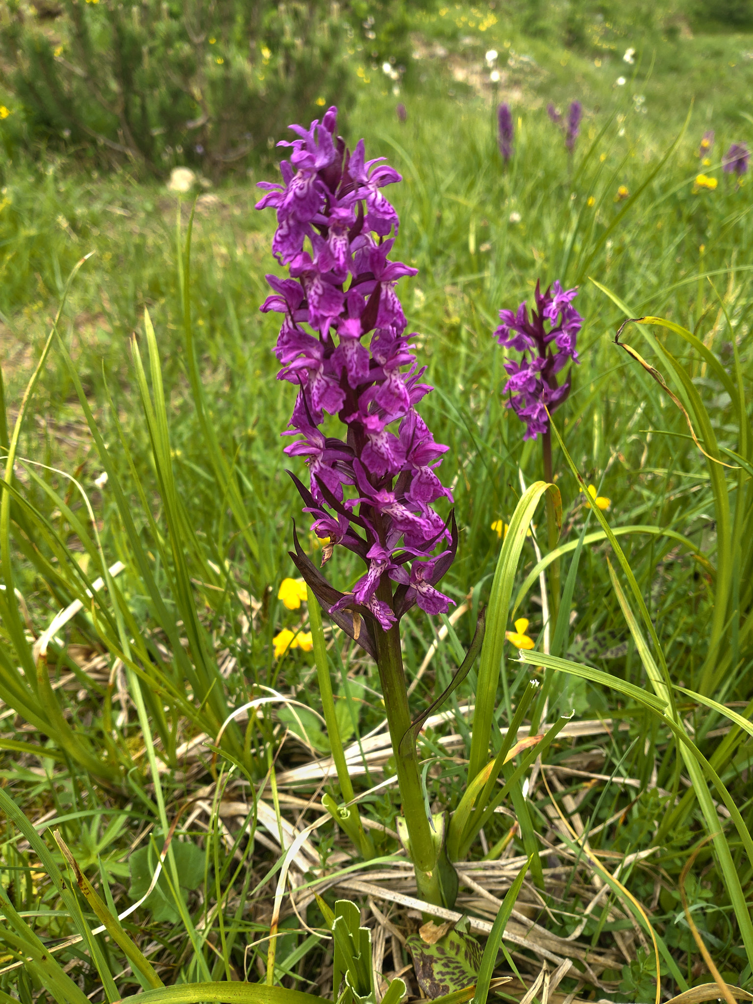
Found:
[[[267, 194], [256, 208], [276, 210], [272, 250], [291, 276], [267, 276], [273, 292], [261, 310], [283, 314], [278, 380], [297, 389], [285, 453], [308, 465], [310, 489], [293, 481], [314, 532], [328, 538], [322, 563], [342, 546], [366, 570], [342, 593], [297, 538], [291, 557], [335, 621], [373, 655], [373, 632], [389, 631], [414, 603], [448, 610], [453, 600], [436, 585], [455, 556], [457, 528], [434, 508], [452, 502], [436, 474], [448, 447], [416, 411], [432, 388], [395, 290], [417, 270], [388, 258], [400, 221], [382, 189], [401, 176], [383, 158], [365, 161], [362, 140], [346, 150], [336, 114], [331, 107], [308, 130], [291, 126], [298, 139], [278, 144], [292, 148], [282, 184], [259, 184]], [[320, 429], [325, 415], [340, 420], [341, 439]]]

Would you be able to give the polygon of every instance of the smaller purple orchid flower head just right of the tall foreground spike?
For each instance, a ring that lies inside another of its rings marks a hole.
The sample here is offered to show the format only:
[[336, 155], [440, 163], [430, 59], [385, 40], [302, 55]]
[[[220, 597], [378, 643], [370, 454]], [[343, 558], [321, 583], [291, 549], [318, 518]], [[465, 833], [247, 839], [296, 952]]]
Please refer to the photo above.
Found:
[[500, 345], [522, 352], [520, 361], [505, 362], [509, 376], [504, 388], [507, 408], [525, 422], [524, 439], [536, 439], [546, 433], [549, 420], [546, 410], [553, 412], [570, 392], [570, 374], [561, 386], [557, 373], [567, 360], [578, 362], [575, 339], [583, 318], [572, 306], [577, 289], [562, 289], [554, 282], [545, 293], [536, 283], [536, 309], [528, 316], [528, 307], [521, 303], [516, 313], [500, 310], [502, 323], [494, 332]]

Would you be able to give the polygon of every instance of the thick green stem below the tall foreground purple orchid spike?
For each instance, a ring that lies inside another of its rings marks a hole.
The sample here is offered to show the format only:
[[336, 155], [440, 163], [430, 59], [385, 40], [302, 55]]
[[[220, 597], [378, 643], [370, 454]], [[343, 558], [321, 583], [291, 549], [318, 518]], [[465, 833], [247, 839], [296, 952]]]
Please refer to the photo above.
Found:
[[[392, 605], [392, 588], [389, 582], [382, 582], [376, 595]], [[410, 854], [416, 869], [419, 892], [429, 902], [442, 905], [439, 870], [437, 868], [438, 847], [432, 836], [429, 817], [424, 803], [421, 785], [419, 758], [416, 745], [401, 751], [401, 740], [411, 728], [411, 712], [408, 706], [408, 689], [403, 671], [403, 653], [400, 648], [400, 630], [394, 624], [389, 632], [374, 632], [376, 642], [376, 664], [380, 671], [382, 693], [390, 728], [395, 763], [398, 768], [398, 783], [403, 802], [403, 814], [408, 828]], [[409, 746], [407, 743], [406, 746]]]

